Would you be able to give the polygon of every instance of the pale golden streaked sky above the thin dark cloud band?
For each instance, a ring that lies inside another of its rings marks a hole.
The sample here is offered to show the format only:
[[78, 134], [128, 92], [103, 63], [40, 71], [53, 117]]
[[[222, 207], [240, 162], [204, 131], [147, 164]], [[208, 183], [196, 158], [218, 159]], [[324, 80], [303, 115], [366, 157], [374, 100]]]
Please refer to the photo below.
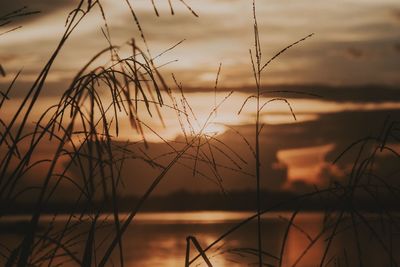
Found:
[[[60, 38], [73, 3], [3, 1], [1, 10], [24, 5], [30, 10], [42, 10], [41, 14], [2, 27], [7, 31], [17, 24], [23, 26], [0, 39], [0, 60], [6, 70], [15, 73], [24, 67], [21, 78], [32, 80]], [[157, 61], [162, 65], [178, 60], [163, 67], [167, 78], [173, 72], [186, 86], [207, 88], [222, 63], [221, 86], [252, 83], [248, 52], [253, 47], [251, 1], [187, 1], [198, 17], [180, 1], [172, 1], [174, 15], [170, 14], [166, 0], [155, 3], [159, 17], [150, 1], [132, 1], [150, 52], [156, 55], [185, 40]], [[103, 1], [103, 5], [115, 44], [123, 45], [131, 38], [140, 41], [124, 1]], [[265, 83], [397, 85], [400, 81], [399, 14], [400, 4], [395, 0], [258, 1], [264, 60], [292, 42], [315, 34], [271, 65], [265, 74]], [[69, 40], [49, 81], [67, 80], [87, 59], [107, 46], [102, 26], [98, 11], [85, 18]]]

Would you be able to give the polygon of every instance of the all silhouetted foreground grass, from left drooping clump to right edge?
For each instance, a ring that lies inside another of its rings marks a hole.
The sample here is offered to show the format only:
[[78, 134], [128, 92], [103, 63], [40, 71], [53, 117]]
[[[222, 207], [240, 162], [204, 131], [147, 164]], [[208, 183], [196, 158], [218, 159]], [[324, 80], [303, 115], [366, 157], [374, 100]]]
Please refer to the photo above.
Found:
[[[392, 147], [400, 138], [399, 122], [388, 119], [378, 136], [367, 136], [355, 141], [335, 161], [340, 161], [348, 153], [356, 151], [352, 160], [351, 172], [347, 184], [333, 181], [332, 185], [324, 189], [316, 189], [296, 198], [285, 202], [270, 205], [263, 208], [261, 203], [261, 168], [262, 158], [260, 153], [260, 134], [264, 125], [260, 120], [260, 112], [271, 102], [280, 101], [288, 106], [290, 114], [296, 120], [295, 110], [290, 102], [284, 97], [273, 97], [264, 100], [263, 96], [271, 93], [286, 94], [305, 94], [310, 97], [318, 95], [299, 91], [262, 91], [262, 75], [267, 70], [270, 63], [277, 59], [288, 49], [310, 38], [313, 34], [288, 45], [280, 50], [267, 61], [261, 49], [259, 28], [256, 16], [256, 4], [253, 1], [253, 30], [254, 48], [250, 49], [251, 68], [254, 75], [255, 93], [247, 97], [243, 105], [239, 108], [239, 114], [250, 100], [256, 101], [255, 122], [254, 122], [254, 147], [252, 142], [246, 139], [239, 131], [231, 126], [227, 126], [243, 140], [249, 151], [254, 156], [254, 173], [243, 170], [242, 166], [249, 164], [244, 157], [237, 153], [229, 143], [220, 140], [218, 136], [205, 132], [206, 127], [214, 123], [217, 110], [230, 97], [228, 93], [224, 99], [217, 102], [216, 93], [218, 80], [221, 73], [219, 64], [214, 84], [214, 103], [210, 105], [210, 112], [204, 122], [200, 122], [193, 111], [189, 101], [184, 95], [184, 88], [173, 75], [173, 80], [178, 93], [173, 93], [159, 72], [159, 67], [154, 63], [155, 59], [164, 53], [175, 48], [182, 43], [166, 49], [157, 56], [152, 56], [145, 38], [144, 30], [141, 27], [135, 8], [126, 0], [133, 23], [140, 32], [140, 38], [144, 44], [141, 49], [135, 39], [129, 43], [132, 54], [128, 57], [121, 57], [119, 47], [113, 45], [106, 19], [106, 10], [103, 9], [99, 1], [81, 0], [76, 8], [70, 12], [66, 19], [65, 32], [60, 39], [57, 47], [40, 71], [37, 79], [28, 92], [22, 98], [17, 111], [9, 120], [0, 118], [0, 149], [4, 151], [0, 159], [0, 199], [2, 203], [15, 203], [26, 193], [34, 192], [35, 205], [30, 221], [23, 231], [23, 237], [18, 240], [17, 245], [8, 246], [0, 243], [0, 256], [4, 258], [5, 266], [58, 266], [71, 263], [80, 266], [106, 266], [109, 264], [119, 264], [124, 266], [124, 246], [123, 235], [135, 219], [138, 212], [143, 208], [160, 182], [166, 178], [166, 174], [175, 165], [180, 165], [190, 170], [193, 175], [202, 176], [213, 182], [221, 192], [225, 192], [223, 187], [223, 177], [221, 169], [239, 172], [247, 176], [255, 176], [257, 201], [255, 213], [251, 217], [234, 225], [219, 238], [202, 248], [199, 241], [194, 236], [187, 237], [187, 248], [185, 266], [190, 266], [198, 258], [202, 258], [208, 265], [212, 266], [211, 258], [207, 252], [216, 247], [222, 240], [242, 228], [249, 222], [257, 221], [257, 247], [228, 248], [221, 250], [220, 254], [236, 254], [243, 257], [257, 257], [258, 266], [283, 266], [285, 251], [288, 249], [287, 239], [292, 230], [304, 235], [308, 244], [293, 262], [293, 266], [299, 266], [301, 260], [307, 252], [316, 244], [324, 240], [326, 243], [324, 253], [319, 259], [320, 266], [332, 264], [335, 255], [331, 255], [332, 244], [339, 234], [350, 232], [354, 238], [357, 248], [357, 255], [347, 255], [344, 251], [346, 264], [349, 257], [356, 259], [357, 265], [368, 265], [363, 262], [363, 244], [360, 237], [361, 231], [368, 231], [374, 242], [384, 250], [391, 266], [397, 266], [395, 253], [391, 243], [386, 244], [382, 234], [374, 226], [377, 221], [372, 220], [357, 209], [355, 204], [360, 193], [368, 195], [382, 211], [380, 214], [381, 226], [387, 222], [390, 224], [391, 233], [400, 231], [399, 222], [396, 214], [385, 207], [379, 196], [389, 194], [394, 199], [399, 199], [399, 189], [385, 181], [384, 177], [375, 173], [375, 161], [381, 152], [389, 152], [396, 158], [400, 155]], [[198, 16], [197, 13], [183, 0], [178, 3], [184, 5], [190, 13]], [[159, 12], [154, 1], [149, 1], [153, 7], [155, 15]], [[168, 0], [171, 14], [174, 14], [173, 2]], [[32, 111], [42, 96], [43, 88], [56, 58], [60, 53], [74, 30], [84, 23], [84, 18], [98, 8], [104, 22], [103, 34], [108, 43], [108, 47], [93, 56], [91, 60], [79, 70], [72, 79], [71, 84], [65, 89], [58, 103], [43, 111], [39, 118], [34, 118], [35, 123], [32, 128], [29, 121], [33, 119]], [[11, 20], [31, 15], [36, 12], [27, 12], [25, 8], [6, 14], [0, 18], [0, 26], [7, 25]], [[18, 28], [18, 27], [17, 27]], [[12, 30], [16, 30], [13, 28]], [[4, 33], [0, 33], [2, 35]], [[2, 38], [4, 38], [2, 36]], [[103, 58], [109, 56], [105, 62]], [[100, 64], [98, 61], [102, 61]], [[264, 63], [265, 62], [265, 63]], [[3, 67], [0, 66], [0, 74], [6, 75]], [[20, 76], [18, 72], [5, 92], [1, 92], [0, 110], [4, 108], [6, 101], [12, 101], [9, 97], [16, 81]], [[171, 104], [164, 99], [168, 97]], [[109, 102], [107, 99], [111, 99]], [[211, 103], [211, 101], [210, 101]], [[170, 109], [175, 111], [179, 121], [184, 141], [170, 141], [163, 138], [143, 119], [144, 114], [149, 114], [152, 119], [163, 122], [163, 110]], [[156, 118], [153, 115], [156, 114]], [[120, 132], [120, 116], [127, 116], [130, 125], [136, 130], [142, 142], [133, 144], [116, 144], [115, 138]], [[169, 149], [168, 152], [153, 156], [146, 151], [145, 132], [150, 131], [155, 134], [161, 142]], [[54, 144], [54, 151], [49, 159], [35, 160], [40, 146], [46, 142]], [[28, 144], [28, 145], [27, 145]], [[141, 147], [144, 144], [144, 148]], [[27, 145], [27, 148], [24, 147]], [[264, 148], [262, 148], [264, 149]], [[268, 148], [266, 148], [268, 149]], [[227, 164], [218, 162], [217, 156], [227, 160]], [[121, 215], [118, 206], [120, 189], [124, 185], [122, 169], [128, 159], [144, 161], [149, 166], [159, 170], [150, 186], [146, 189], [139, 201], [131, 208], [126, 217]], [[62, 170], [57, 167], [62, 163]], [[165, 163], [166, 162], [166, 163]], [[210, 173], [204, 173], [199, 166], [203, 164]], [[35, 187], [20, 189], [23, 180], [29, 171], [35, 167], [42, 167], [46, 174], [41, 177], [41, 184]], [[71, 176], [72, 169], [77, 170], [76, 177]], [[68, 182], [74, 188], [76, 200], [72, 211], [67, 214], [68, 218], [63, 221], [61, 226], [56, 226], [58, 214], [53, 214], [52, 219], [41, 229], [40, 219], [44, 215], [44, 207], [52, 201], [57, 194], [61, 184]], [[335, 211], [328, 208], [324, 211], [325, 218], [321, 231], [311, 236], [306, 230], [296, 223], [296, 218], [302, 212], [302, 207], [306, 206], [307, 200], [316, 197], [331, 197], [337, 201]], [[99, 206], [98, 200], [103, 200], [104, 205]], [[199, 200], [201, 201], [201, 199]], [[103, 216], [106, 212], [106, 203], [112, 203], [112, 214]], [[262, 237], [268, 235], [270, 229], [263, 229], [262, 214], [277, 210], [285, 205], [296, 204], [297, 209], [293, 210], [290, 219], [287, 220], [287, 227], [282, 236], [279, 253], [274, 255], [265, 251]], [[265, 204], [265, 203], [264, 203]], [[265, 207], [265, 205], [264, 205]], [[5, 216], [4, 211], [0, 211], [0, 216]], [[350, 218], [350, 219], [349, 219]], [[362, 228], [364, 227], [364, 228]], [[393, 228], [393, 229], [392, 229]], [[364, 229], [364, 230], [361, 230]], [[100, 233], [105, 233], [101, 235]], [[191, 243], [199, 252], [190, 258]], [[114, 256], [117, 255], [117, 262]], [[272, 260], [273, 264], [269, 263]]]

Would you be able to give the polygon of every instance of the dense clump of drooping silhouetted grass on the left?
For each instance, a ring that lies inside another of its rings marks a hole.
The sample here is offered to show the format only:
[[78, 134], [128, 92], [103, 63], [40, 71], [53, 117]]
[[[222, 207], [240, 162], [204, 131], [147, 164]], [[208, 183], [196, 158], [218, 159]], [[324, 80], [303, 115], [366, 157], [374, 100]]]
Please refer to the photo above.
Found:
[[[129, 2], [126, 3], [130, 6]], [[155, 8], [154, 3], [153, 6]], [[103, 33], [110, 46], [95, 55], [77, 73], [69, 88], [65, 90], [59, 103], [46, 110], [38, 122], [36, 122], [33, 132], [29, 132], [27, 127], [28, 118], [31, 116], [33, 106], [38, 102], [54, 60], [58, 57], [75, 28], [95, 7], [100, 9], [103, 16], [106, 29]], [[21, 9], [3, 16], [2, 21], [5, 22], [2, 25], [7, 24], [14, 17], [31, 14], [24, 12], [24, 10]], [[131, 11], [136, 25], [141, 32], [142, 39], [146, 44], [140, 23], [132, 8]], [[22, 194], [15, 190], [23, 179], [24, 174], [30, 168], [36, 165], [43, 165], [44, 163], [48, 164], [46, 165], [47, 175], [43, 177], [42, 185], [39, 188], [32, 188], [37, 190], [38, 199], [29, 227], [25, 230], [24, 238], [20, 245], [10, 250], [11, 255], [7, 257], [6, 265], [11, 266], [16, 264], [17, 266], [26, 266], [30, 263], [41, 264], [44, 262], [48, 262], [51, 265], [59, 262], [59, 257], [69, 257], [77, 264], [84, 266], [93, 264], [94, 259], [97, 257], [95, 235], [99, 228], [99, 214], [101, 213], [101, 209], [90, 219], [90, 228], [77, 236], [73, 236], [71, 239], [68, 236], [74, 231], [81, 231], [78, 229], [82, 228], [72, 222], [72, 218], [76, 216], [74, 213], [70, 214], [61, 232], [54, 232], [50, 227], [43, 235], [37, 233], [42, 208], [51, 200], [62, 180], [67, 180], [75, 186], [79, 194], [76, 202], [77, 206], [86, 203], [84, 205], [90, 208], [94, 198], [98, 195], [97, 192], [99, 189], [102, 190], [104, 199], [112, 199], [114, 203], [113, 224], [115, 228], [115, 238], [113, 240], [118, 244], [120, 263], [123, 265], [121, 236], [136, 212], [132, 213], [133, 215], [130, 217], [130, 220], [128, 219], [124, 223], [121, 222], [117, 206], [117, 187], [121, 184], [120, 170], [123, 161], [114, 161], [115, 153], [113, 151], [111, 130], [114, 129], [115, 135], [118, 136], [118, 114], [124, 112], [129, 116], [131, 125], [144, 137], [143, 126], [140, 120], [140, 112], [142, 111], [139, 111], [139, 103], [145, 104], [145, 110], [149, 114], [151, 114], [150, 105], [156, 107], [157, 113], [160, 114], [157, 106], [163, 106], [161, 90], [169, 93], [169, 89], [158, 72], [157, 67], [154, 65], [150, 54], [147, 53], [148, 55], [146, 55], [134, 42], [132, 42], [131, 46], [133, 55], [128, 58], [120, 58], [117, 48], [111, 44], [105, 11], [101, 3], [99, 1], [80, 1], [66, 20], [66, 29], [57, 48], [23, 98], [16, 113], [9, 122], [2, 121], [4, 131], [1, 132], [0, 145], [6, 146], [6, 154], [3, 156], [0, 165], [0, 195], [2, 202], [15, 201]], [[149, 52], [148, 48], [146, 49]], [[108, 66], [93, 67], [94, 61], [106, 53], [110, 53], [111, 58]], [[2, 73], [5, 75], [4, 71]], [[4, 101], [8, 100], [8, 94], [18, 75], [19, 73], [16, 75], [9, 89], [2, 93], [1, 106], [3, 106]], [[100, 91], [104, 91], [105, 89], [108, 90], [112, 99], [109, 106], [103, 102], [100, 96], [102, 94]], [[134, 91], [132, 94], [134, 97], [131, 97], [131, 90]], [[88, 109], [85, 108], [86, 105], [88, 105]], [[112, 114], [111, 117], [110, 113]], [[161, 116], [159, 117], [161, 119]], [[78, 121], [80, 126], [77, 124]], [[53, 157], [49, 160], [33, 162], [32, 156], [36, 153], [45, 138], [50, 138], [56, 145]], [[20, 153], [19, 147], [26, 140], [30, 140], [27, 152]], [[181, 155], [181, 153], [178, 155]], [[56, 165], [65, 157], [70, 159], [69, 163], [61, 173], [56, 173]], [[85, 165], [86, 162], [87, 167]], [[172, 166], [175, 162], [176, 160], [172, 161], [170, 165]], [[68, 176], [68, 171], [73, 165], [78, 166], [82, 181], [75, 181]], [[161, 179], [168, 170], [169, 167], [165, 167], [157, 179]], [[99, 179], [96, 179], [96, 176]], [[53, 184], [51, 181], [54, 180], [56, 182]], [[147, 195], [143, 196], [142, 202], [151, 193], [151, 189], [148, 192]], [[140, 205], [135, 210], [139, 208]], [[83, 218], [85, 214], [83, 212], [78, 217]], [[87, 222], [82, 221], [82, 223], [86, 224]], [[70, 246], [68, 244], [70, 242], [74, 246], [80, 244], [82, 241], [79, 241], [77, 238], [80, 239], [84, 236], [86, 236], [84, 242], [85, 249], [83, 253], [79, 253], [81, 254], [81, 259], [79, 259], [76, 252], [68, 248]], [[39, 256], [37, 252], [40, 248], [38, 246], [41, 243], [51, 246], [40, 246], [48, 251], [44, 255]], [[107, 253], [100, 258], [99, 265], [104, 265], [114, 250], [113, 242], [108, 246]], [[58, 252], [60, 250], [63, 251], [61, 256]]]

